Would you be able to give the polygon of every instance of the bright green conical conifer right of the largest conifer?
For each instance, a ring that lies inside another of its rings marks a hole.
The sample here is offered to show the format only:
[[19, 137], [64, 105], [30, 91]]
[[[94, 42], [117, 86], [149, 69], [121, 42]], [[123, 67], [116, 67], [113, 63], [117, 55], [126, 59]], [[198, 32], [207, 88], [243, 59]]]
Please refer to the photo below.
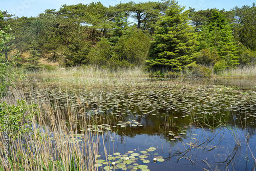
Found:
[[[237, 42], [234, 40], [230, 25], [221, 12], [212, 12], [208, 23], [205, 23], [199, 32], [198, 40], [200, 42], [198, 47], [200, 52], [196, 56], [199, 63], [213, 65], [223, 59], [226, 67], [234, 68], [239, 65]], [[209, 50], [204, 49], [216, 49], [220, 57], [216, 53], [211, 54]], [[219, 67], [217, 68], [219, 70]]]

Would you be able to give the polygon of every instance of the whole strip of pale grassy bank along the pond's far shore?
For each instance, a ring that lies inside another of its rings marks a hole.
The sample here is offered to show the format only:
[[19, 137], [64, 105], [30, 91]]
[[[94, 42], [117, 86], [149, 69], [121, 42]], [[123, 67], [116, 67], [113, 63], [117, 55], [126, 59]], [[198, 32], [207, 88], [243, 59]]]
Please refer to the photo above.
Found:
[[[163, 71], [154, 71], [149, 72], [142, 69], [142, 67], [134, 67], [134, 68], [119, 68], [116, 70], [110, 69], [102, 69], [97, 66], [82, 66], [82, 67], [73, 67], [73, 68], [61, 68], [60, 66], [56, 66], [52, 69], [42, 69], [39, 71], [29, 71], [22, 68], [18, 69], [21, 74], [27, 76], [44, 76], [46, 78], [54, 78], [54, 81], [63, 80], [64, 78], [68, 78], [74, 80], [79, 83], [86, 82], [95, 82], [98, 83], [100, 81], [108, 80], [108, 81], [119, 81], [123, 82], [125, 79], [133, 80], [134, 78], [148, 78], [148, 77], [204, 77], [203, 67], [185, 69], [181, 72], [168, 72], [167, 70]], [[213, 68], [208, 68], [207, 72], [209, 72], [210, 77], [223, 77], [223, 78], [256, 78], [256, 66], [240, 66], [238, 68], [226, 69], [220, 71], [218, 73], [214, 72]], [[79, 80], [82, 78], [83, 81]]]

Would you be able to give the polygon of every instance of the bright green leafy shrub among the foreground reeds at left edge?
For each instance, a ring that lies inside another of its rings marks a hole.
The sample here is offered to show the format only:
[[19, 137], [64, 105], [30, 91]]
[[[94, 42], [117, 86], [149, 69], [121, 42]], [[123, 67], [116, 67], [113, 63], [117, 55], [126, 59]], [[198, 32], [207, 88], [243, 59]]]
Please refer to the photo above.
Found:
[[8, 135], [15, 139], [32, 131], [32, 117], [37, 115], [37, 105], [26, 104], [25, 100], [17, 100], [17, 105], [0, 103], [0, 129], [8, 130]]

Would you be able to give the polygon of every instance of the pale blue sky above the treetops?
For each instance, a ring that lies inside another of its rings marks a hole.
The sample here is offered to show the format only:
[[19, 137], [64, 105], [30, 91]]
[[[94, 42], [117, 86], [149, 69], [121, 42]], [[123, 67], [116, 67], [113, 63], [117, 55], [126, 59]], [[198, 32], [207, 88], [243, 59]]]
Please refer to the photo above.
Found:
[[[97, 0], [100, 1], [100, 0]], [[43, 13], [46, 9], [59, 9], [61, 5], [75, 5], [75, 4], [90, 4], [90, 0], [0, 0], [0, 10], [7, 10], [10, 14], [15, 14], [18, 17], [22, 16], [38, 16], [40, 13]], [[121, 1], [121, 3], [127, 3], [129, 1]], [[159, 0], [160, 1], [160, 0]], [[179, 0], [178, 4], [185, 6], [185, 9], [188, 7], [193, 7], [196, 10], [205, 10], [207, 8], [217, 8], [217, 9], [225, 9], [226, 11], [230, 10], [233, 7], [242, 7], [244, 5], [252, 6], [252, 3], [255, 0]], [[100, 1], [104, 6], [109, 7], [110, 5], [119, 4], [118, 0], [104, 0]], [[134, 0], [134, 2], [138, 3], [139, 1]], [[140, 2], [148, 2], [146, 0], [140, 0]], [[158, 2], [155, 1], [155, 2]]]

